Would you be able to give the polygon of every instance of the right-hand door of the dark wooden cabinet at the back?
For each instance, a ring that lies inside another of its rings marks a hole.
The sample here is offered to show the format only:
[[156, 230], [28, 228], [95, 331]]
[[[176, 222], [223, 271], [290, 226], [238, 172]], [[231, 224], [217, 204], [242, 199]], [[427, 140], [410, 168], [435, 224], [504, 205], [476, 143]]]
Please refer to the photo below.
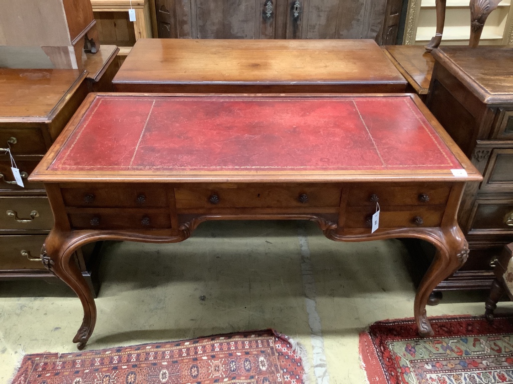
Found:
[[287, 0], [287, 38], [376, 39], [386, 0]]

